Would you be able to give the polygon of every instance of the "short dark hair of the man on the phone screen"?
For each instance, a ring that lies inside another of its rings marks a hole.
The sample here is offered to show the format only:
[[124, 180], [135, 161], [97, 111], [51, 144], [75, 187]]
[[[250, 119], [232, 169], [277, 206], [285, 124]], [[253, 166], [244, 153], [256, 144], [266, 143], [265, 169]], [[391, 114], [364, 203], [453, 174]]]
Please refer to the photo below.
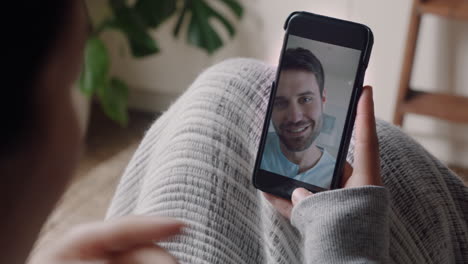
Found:
[[317, 79], [320, 95], [323, 94], [325, 78], [322, 63], [315, 55], [304, 48], [289, 48], [283, 54], [282, 70], [304, 70], [311, 72]]

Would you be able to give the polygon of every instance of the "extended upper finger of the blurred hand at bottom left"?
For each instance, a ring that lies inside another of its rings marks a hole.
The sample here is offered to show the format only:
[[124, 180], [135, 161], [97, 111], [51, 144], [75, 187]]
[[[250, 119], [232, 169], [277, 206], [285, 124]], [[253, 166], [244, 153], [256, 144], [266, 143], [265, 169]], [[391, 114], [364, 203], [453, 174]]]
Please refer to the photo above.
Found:
[[64, 247], [82, 257], [103, 257], [118, 251], [148, 246], [179, 233], [178, 220], [151, 216], [127, 216], [84, 225], [73, 232]]

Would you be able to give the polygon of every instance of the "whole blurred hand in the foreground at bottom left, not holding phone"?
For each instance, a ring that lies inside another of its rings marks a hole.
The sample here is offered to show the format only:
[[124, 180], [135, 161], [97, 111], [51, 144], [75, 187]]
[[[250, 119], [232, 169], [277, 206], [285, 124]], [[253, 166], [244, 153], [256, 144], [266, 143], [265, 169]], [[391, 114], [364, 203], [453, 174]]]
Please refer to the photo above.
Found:
[[73, 228], [30, 264], [177, 263], [155, 242], [178, 234], [184, 224], [154, 216], [127, 216]]

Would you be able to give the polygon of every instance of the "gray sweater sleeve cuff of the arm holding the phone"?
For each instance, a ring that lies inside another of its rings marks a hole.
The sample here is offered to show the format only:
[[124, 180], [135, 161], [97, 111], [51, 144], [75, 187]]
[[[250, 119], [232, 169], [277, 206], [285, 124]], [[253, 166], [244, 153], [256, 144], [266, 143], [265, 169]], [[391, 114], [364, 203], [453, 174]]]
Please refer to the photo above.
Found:
[[366, 186], [314, 194], [293, 210], [306, 263], [386, 263], [389, 194]]

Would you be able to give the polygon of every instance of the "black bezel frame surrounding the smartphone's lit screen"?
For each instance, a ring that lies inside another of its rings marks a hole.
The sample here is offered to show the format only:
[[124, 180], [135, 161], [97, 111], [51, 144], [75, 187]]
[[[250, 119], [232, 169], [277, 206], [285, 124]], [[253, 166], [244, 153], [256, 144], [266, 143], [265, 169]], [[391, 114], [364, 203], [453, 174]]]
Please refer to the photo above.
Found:
[[268, 192], [285, 199], [290, 199], [292, 191], [298, 187], [306, 188], [312, 192], [326, 191], [327, 189], [294, 180], [292, 178], [278, 175], [269, 171], [260, 169], [260, 163], [263, 156], [268, 126], [272, 113], [272, 101], [276, 94], [276, 85], [279, 79], [283, 53], [288, 43], [289, 35], [296, 35], [320, 42], [330, 43], [338, 46], [348, 47], [361, 51], [358, 69], [356, 71], [353, 91], [349, 103], [348, 113], [346, 114], [343, 137], [341, 138], [336, 166], [333, 172], [333, 180], [330, 189], [337, 189], [341, 185], [341, 177], [344, 162], [349, 148], [351, 134], [356, 117], [357, 102], [361, 95], [364, 74], [370, 59], [370, 53], [373, 45], [373, 34], [369, 27], [363, 24], [341, 20], [337, 18], [317, 15], [309, 12], [293, 12], [286, 19], [285, 37], [283, 47], [276, 72], [275, 82], [272, 83], [270, 98], [268, 101], [267, 112], [264, 119], [262, 135], [259, 149], [255, 161], [253, 173], [253, 184], [257, 189]]

